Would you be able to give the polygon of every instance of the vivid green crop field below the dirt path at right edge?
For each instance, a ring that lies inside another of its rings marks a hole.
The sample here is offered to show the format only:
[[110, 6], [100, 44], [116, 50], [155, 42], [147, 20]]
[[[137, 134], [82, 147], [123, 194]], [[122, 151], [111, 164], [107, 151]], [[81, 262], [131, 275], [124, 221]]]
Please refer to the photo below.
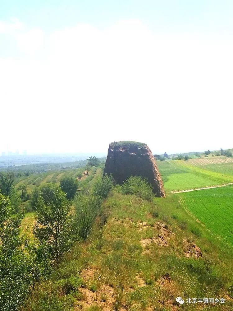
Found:
[[233, 246], [233, 186], [180, 193], [179, 196], [185, 208]]

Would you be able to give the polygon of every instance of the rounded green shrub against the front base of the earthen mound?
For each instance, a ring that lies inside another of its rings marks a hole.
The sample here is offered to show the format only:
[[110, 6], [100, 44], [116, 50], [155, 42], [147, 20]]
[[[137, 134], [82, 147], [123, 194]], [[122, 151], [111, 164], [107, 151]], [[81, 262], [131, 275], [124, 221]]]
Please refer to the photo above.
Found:
[[144, 200], [152, 201], [152, 186], [141, 176], [130, 176], [121, 186], [121, 192], [124, 194], [136, 194]]

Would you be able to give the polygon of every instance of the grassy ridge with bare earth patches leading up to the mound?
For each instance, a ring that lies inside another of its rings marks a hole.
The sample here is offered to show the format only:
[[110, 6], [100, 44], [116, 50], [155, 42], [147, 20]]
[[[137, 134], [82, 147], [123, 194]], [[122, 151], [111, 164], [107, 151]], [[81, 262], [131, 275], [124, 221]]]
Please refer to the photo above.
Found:
[[[179, 199], [168, 195], [147, 202], [113, 191], [104, 202], [107, 222], [97, 220], [89, 240], [65, 255], [24, 310], [169, 311], [180, 309], [177, 296], [233, 295], [232, 249], [190, 217]], [[170, 232], [163, 233], [166, 244], [156, 243], [162, 234], [158, 222]], [[187, 258], [185, 240], [198, 245], [203, 257]], [[231, 308], [227, 299], [211, 310]], [[182, 309], [196, 308], [186, 304]]]

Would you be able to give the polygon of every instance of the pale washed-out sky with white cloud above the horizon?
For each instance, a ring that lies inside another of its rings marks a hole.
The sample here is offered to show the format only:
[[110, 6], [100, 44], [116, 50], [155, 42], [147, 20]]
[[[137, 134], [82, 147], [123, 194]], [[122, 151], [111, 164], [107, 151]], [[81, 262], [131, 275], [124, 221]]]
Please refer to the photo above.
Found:
[[0, 152], [233, 147], [232, 1], [18, 2], [0, 3]]

